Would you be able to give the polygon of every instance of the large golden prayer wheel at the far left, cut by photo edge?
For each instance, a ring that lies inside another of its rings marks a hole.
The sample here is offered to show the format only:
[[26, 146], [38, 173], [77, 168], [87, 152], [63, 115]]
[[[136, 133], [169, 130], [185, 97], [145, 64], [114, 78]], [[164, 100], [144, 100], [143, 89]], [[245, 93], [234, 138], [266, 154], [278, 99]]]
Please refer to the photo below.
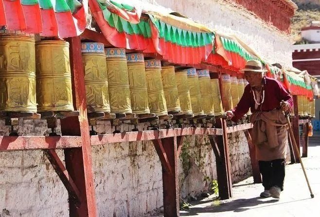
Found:
[[36, 112], [35, 39], [0, 34], [0, 111]]

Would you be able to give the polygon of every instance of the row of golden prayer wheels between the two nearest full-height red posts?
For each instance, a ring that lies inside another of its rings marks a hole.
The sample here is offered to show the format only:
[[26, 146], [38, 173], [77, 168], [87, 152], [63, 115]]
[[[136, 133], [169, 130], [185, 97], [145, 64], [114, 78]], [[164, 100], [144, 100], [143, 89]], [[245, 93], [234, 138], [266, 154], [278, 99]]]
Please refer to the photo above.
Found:
[[141, 53], [83, 43], [88, 112], [221, 115], [218, 79], [208, 70], [175, 71]]

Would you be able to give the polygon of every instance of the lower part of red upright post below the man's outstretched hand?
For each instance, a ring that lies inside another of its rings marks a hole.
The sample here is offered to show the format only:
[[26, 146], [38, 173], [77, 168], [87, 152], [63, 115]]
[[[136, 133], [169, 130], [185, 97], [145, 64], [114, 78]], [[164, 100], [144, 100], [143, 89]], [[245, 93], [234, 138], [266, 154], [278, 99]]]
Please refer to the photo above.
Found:
[[225, 200], [232, 197], [231, 164], [226, 120], [222, 118], [216, 119], [215, 127], [223, 129], [223, 135], [215, 136], [215, 142], [220, 152], [220, 159], [216, 158], [219, 196], [221, 200]]

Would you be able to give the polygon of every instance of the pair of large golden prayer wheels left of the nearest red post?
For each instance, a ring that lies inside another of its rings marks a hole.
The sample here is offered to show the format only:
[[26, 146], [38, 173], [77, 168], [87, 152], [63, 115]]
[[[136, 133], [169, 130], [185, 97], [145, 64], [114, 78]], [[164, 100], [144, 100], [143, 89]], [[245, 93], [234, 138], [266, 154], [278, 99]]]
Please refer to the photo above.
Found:
[[69, 43], [0, 34], [0, 111], [72, 111]]

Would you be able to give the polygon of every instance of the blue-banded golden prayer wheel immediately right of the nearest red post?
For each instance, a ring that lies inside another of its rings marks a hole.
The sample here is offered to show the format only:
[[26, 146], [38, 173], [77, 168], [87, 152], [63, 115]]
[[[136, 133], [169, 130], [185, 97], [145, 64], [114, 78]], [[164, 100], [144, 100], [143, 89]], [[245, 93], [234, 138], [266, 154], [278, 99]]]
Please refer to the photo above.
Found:
[[88, 112], [110, 112], [105, 46], [82, 43]]

